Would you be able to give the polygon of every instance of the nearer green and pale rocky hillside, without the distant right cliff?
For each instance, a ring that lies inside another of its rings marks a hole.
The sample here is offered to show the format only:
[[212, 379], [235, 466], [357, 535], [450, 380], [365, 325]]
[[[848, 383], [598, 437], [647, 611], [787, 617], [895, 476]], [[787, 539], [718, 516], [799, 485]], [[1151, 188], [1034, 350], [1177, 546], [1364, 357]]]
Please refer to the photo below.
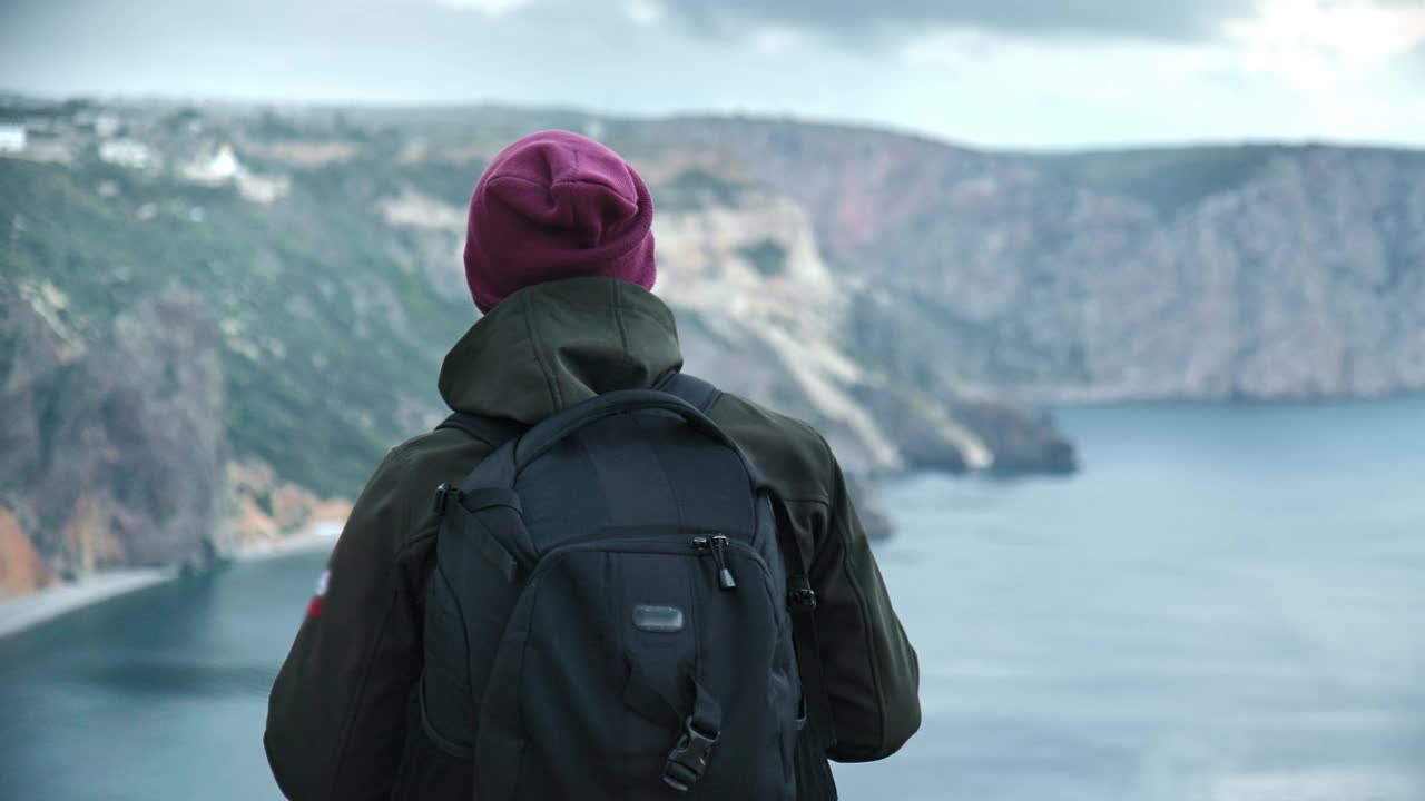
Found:
[[[4, 108], [26, 141], [0, 158], [0, 586], [200, 564], [339, 517], [388, 448], [440, 419], [439, 362], [476, 319], [463, 207], [530, 123], [388, 117]], [[797, 204], [717, 153], [630, 155], [690, 369], [817, 423], [856, 473], [996, 469], [999, 452], [1072, 469], [1039, 419], [965, 399], [995, 409], [978, 433], [956, 396], [858, 361]]]

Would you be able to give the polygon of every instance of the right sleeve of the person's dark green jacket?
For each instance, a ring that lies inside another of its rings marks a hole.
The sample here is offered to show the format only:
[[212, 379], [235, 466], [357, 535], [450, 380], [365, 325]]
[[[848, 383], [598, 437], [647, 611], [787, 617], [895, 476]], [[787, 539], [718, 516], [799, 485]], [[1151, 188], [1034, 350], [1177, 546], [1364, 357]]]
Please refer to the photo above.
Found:
[[836, 727], [828, 755], [865, 763], [896, 753], [921, 727], [921, 668], [829, 449], [828, 458], [826, 500], [802, 503], [815, 543], [817, 640]]

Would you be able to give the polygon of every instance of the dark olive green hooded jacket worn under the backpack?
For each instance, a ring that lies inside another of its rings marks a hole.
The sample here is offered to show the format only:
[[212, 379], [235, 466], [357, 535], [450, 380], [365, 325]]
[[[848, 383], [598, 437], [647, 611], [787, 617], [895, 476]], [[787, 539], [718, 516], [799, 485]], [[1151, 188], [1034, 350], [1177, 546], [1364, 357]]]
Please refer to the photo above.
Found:
[[[651, 386], [680, 369], [673, 312], [611, 278], [510, 295], [456, 343], [440, 371], [452, 409], [540, 419], [598, 393]], [[817, 633], [838, 761], [879, 760], [919, 727], [919, 667], [825, 440], [731, 393], [710, 416], [785, 500], [809, 557]], [[268, 761], [294, 800], [386, 798], [420, 674], [422, 606], [435, 559], [435, 487], [465, 477], [489, 446], [457, 430], [390, 450], [356, 500], [328, 564], [319, 616], [292, 643], [268, 706]]]

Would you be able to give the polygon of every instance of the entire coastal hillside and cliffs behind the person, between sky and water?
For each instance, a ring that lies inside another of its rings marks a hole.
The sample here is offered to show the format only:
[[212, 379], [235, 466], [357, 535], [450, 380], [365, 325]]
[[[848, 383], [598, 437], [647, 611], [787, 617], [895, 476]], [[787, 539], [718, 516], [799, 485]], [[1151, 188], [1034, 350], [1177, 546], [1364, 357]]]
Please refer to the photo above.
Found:
[[1425, 388], [1416, 153], [1016, 155], [507, 108], [11, 100], [0, 125], [26, 133], [0, 153], [0, 586], [339, 516], [439, 419], [476, 318], [466, 200], [546, 127], [648, 180], [688, 368], [859, 475], [1072, 470], [1040, 403]]

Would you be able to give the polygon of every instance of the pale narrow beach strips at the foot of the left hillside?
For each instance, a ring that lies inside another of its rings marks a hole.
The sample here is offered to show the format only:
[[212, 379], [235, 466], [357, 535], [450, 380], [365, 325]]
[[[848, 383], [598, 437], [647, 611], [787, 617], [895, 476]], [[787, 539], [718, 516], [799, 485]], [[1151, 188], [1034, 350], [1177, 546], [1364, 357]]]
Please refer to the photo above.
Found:
[[[335, 544], [336, 537], [328, 529], [319, 527], [291, 537], [247, 546], [228, 556], [225, 562], [264, 562], [299, 553], [319, 553], [331, 550]], [[51, 584], [27, 596], [0, 600], [0, 640], [50, 623], [71, 611], [162, 582], [171, 582], [180, 574], [181, 570], [177, 567], [104, 570], [78, 582]]]

